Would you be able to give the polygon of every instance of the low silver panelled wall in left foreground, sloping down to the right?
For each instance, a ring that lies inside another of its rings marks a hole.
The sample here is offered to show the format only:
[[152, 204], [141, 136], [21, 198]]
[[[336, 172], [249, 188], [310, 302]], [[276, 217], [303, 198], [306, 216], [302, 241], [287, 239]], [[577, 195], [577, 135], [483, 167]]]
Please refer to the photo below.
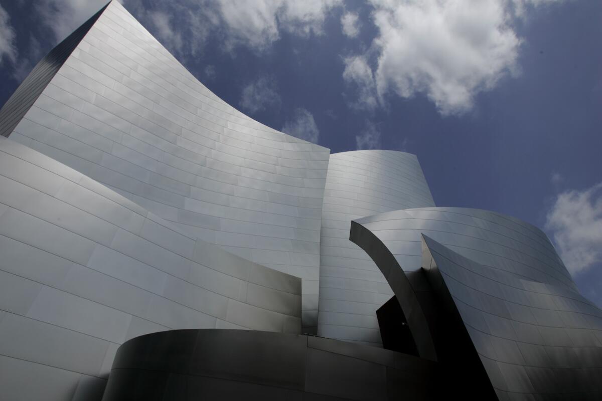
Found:
[[0, 398], [94, 400], [149, 332], [299, 333], [301, 282], [0, 139]]

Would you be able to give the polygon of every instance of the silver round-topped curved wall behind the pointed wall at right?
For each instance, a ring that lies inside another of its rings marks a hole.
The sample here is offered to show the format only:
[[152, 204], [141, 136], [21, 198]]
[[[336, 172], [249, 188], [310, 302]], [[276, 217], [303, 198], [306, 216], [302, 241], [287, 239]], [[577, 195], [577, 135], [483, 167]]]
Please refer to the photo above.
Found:
[[420, 269], [420, 233], [424, 233], [482, 265], [576, 289], [548, 237], [539, 228], [510, 216], [462, 207], [432, 207], [396, 210], [356, 222], [379, 237], [405, 271]]

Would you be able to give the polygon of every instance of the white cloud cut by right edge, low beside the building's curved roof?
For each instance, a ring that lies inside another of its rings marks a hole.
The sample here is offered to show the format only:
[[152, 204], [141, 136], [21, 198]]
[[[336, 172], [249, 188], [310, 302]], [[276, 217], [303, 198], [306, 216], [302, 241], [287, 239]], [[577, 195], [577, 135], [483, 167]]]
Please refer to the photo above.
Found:
[[547, 214], [560, 257], [572, 274], [602, 262], [602, 183], [559, 194]]

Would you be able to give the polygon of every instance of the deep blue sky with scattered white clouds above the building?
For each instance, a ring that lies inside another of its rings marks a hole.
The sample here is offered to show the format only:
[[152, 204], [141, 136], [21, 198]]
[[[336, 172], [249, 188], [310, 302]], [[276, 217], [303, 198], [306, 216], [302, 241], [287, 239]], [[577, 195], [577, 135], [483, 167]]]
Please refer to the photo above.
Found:
[[[0, 0], [0, 104], [104, 0]], [[602, 2], [122, 0], [203, 84], [332, 152], [415, 153], [438, 206], [541, 227], [602, 305]]]

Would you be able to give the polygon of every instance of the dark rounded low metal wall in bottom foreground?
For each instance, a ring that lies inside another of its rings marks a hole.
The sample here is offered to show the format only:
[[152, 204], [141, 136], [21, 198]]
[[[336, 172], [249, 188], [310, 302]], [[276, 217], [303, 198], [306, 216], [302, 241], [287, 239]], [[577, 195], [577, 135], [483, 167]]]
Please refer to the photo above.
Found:
[[306, 335], [174, 330], [124, 343], [104, 401], [436, 399], [437, 364]]

